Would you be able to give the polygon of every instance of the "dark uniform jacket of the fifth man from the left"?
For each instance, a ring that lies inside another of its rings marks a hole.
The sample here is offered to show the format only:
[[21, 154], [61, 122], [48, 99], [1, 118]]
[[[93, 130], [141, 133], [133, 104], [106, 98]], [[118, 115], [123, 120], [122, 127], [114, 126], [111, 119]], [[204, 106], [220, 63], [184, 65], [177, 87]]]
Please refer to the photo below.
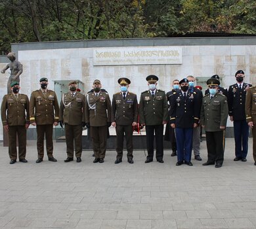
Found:
[[117, 125], [131, 125], [133, 122], [138, 122], [137, 96], [131, 92], [127, 92], [127, 96], [123, 99], [121, 92], [114, 94], [111, 119]]

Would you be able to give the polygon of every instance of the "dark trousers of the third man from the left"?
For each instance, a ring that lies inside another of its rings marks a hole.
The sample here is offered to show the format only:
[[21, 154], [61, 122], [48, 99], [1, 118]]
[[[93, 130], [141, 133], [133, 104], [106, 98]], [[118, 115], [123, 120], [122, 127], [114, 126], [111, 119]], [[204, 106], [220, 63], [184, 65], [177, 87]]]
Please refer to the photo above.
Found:
[[74, 141], [75, 141], [75, 156], [81, 158], [82, 154], [82, 126], [68, 125], [65, 123], [65, 135], [68, 158], [74, 157]]

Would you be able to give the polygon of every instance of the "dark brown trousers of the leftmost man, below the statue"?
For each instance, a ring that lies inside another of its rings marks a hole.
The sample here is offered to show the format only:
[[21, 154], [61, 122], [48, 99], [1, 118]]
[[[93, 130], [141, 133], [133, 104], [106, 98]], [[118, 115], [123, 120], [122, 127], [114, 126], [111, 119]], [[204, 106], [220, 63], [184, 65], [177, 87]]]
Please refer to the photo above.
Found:
[[27, 130], [24, 126], [9, 126], [9, 156], [11, 160], [17, 159], [16, 136], [18, 136], [18, 158], [26, 157]]

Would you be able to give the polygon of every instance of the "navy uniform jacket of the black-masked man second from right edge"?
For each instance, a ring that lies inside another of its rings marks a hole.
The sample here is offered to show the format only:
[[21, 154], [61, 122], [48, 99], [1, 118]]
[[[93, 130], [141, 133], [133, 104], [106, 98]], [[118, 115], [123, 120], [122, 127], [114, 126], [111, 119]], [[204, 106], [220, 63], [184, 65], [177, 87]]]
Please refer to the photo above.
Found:
[[245, 120], [245, 97], [246, 91], [251, 86], [244, 82], [242, 90], [238, 84], [233, 84], [228, 88], [228, 110], [233, 120]]

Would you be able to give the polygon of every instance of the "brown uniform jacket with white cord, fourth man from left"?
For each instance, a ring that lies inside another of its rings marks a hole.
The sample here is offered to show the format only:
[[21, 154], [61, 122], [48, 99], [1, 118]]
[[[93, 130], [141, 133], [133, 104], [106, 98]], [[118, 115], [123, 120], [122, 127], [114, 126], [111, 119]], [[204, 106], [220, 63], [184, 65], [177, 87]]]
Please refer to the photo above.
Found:
[[[111, 101], [108, 93], [100, 91], [96, 96], [92, 92], [87, 94], [86, 100], [85, 122], [90, 123], [90, 126], [107, 126], [107, 122], [111, 122]], [[95, 105], [95, 109], [91, 109], [89, 105]]]

